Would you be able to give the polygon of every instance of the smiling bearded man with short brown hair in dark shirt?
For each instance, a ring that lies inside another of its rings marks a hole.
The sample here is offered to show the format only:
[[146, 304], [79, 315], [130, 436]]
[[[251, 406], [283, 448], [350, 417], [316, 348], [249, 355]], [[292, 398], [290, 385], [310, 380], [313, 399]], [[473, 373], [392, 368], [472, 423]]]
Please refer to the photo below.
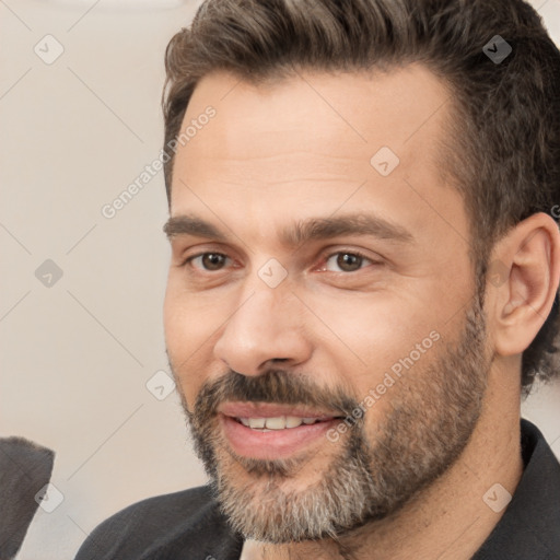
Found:
[[[521, 0], [210, 0], [171, 42], [166, 345], [209, 487], [79, 560], [560, 558], [560, 54]], [[513, 498], [512, 498], [513, 497]]]

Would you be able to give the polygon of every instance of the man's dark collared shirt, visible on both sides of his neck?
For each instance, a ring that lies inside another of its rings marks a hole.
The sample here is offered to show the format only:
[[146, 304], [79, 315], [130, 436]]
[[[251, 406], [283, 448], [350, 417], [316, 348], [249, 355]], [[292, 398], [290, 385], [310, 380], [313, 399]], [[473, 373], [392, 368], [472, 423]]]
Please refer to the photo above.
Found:
[[[560, 464], [522, 420], [525, 469], [502, 518], [472, 560], [560, 560]], [[234, 535], [208, 487], [150, 498], [102, 523], [75, 560], [238, 560]]]

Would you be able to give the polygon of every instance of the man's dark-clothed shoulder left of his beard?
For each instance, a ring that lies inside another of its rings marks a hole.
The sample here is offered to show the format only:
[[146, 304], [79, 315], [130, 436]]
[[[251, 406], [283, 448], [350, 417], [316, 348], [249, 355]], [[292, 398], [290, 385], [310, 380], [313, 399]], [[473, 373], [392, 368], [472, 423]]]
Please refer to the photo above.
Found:
[[242, 544], [205, 486], [129, 505], [95, 528], [75, 560], [237, 560]]

